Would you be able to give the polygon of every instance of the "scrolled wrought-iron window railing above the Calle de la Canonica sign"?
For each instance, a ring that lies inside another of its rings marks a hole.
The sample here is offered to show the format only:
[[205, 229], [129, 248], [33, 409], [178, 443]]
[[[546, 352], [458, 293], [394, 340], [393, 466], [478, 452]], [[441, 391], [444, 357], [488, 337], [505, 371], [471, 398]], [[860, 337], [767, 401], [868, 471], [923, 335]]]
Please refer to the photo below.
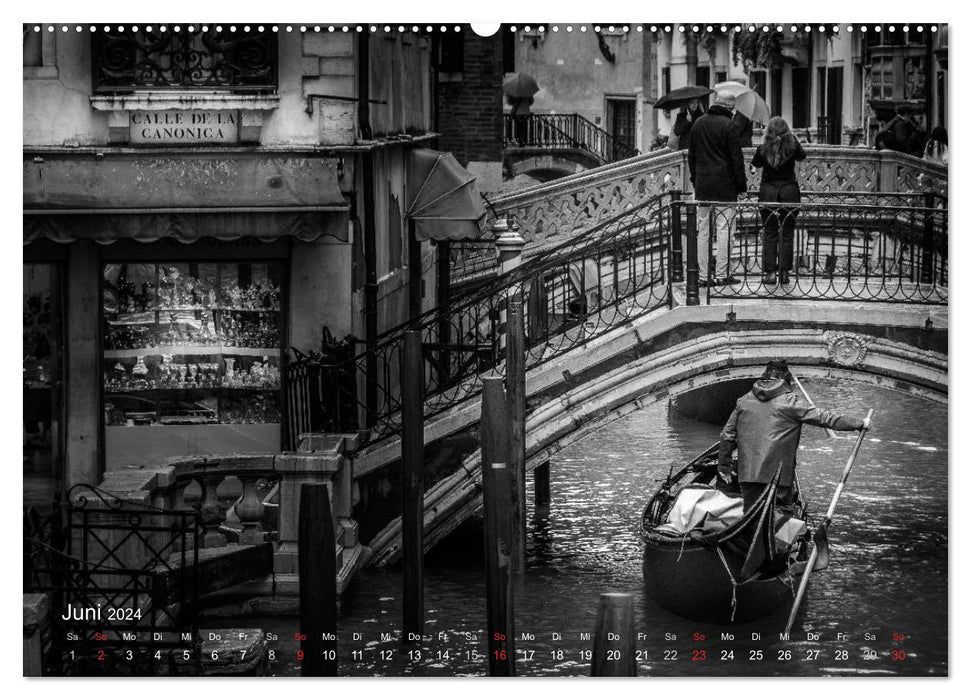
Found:
[[232, 90], [277, 87], [277, 37], [253, 27], [154, 25], [151, 31], [95, 32], [91, 37], [94, 91]]

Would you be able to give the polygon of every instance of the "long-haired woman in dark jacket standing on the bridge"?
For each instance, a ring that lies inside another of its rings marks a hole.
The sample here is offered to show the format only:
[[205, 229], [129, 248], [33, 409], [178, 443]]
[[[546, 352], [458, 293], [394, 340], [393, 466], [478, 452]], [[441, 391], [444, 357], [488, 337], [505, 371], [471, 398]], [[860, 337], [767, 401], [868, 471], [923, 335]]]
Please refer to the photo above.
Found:
[[[756, 149], [752, 165], [762, 168], [760, 202], [799, 202], [799, 183], [796, 181], [796, 161], [805, 160], [806, 152], [796, 135], [782, 117], [772, 117], [765, 128], [765, 140]], [[789, 284], [792, 271], [792, 242], [796, 230], [793, 207], [760, 207], [762, 218], [762, 272], [764, 283]], [[781, 230], [781, 237], [780, 237]]]

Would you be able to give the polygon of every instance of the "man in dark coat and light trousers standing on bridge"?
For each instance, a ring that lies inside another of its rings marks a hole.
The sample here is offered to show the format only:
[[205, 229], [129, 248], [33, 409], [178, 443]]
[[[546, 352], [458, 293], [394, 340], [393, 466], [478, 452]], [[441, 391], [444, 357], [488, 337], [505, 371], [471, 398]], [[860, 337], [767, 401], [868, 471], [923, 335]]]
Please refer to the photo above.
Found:
[[[738, 128], [732, 123], [734, 107], [735, 97], [730, 92], [716, 93], [715, 104], [707, 114], [698, 118], [689, 132], [688, 170], [698, 202], [737, 202], [738, 195], [748, 188]], [[738, 280], [728, 274], [729, 241], [735, 223], [735, 208], [732, 206], [698, 207], [698, 268], [701, 279], [711, 279], [709, 217], [714, 218], [716, 235], [713, 246], [715, 280], [719, 284], [736, 284]]]

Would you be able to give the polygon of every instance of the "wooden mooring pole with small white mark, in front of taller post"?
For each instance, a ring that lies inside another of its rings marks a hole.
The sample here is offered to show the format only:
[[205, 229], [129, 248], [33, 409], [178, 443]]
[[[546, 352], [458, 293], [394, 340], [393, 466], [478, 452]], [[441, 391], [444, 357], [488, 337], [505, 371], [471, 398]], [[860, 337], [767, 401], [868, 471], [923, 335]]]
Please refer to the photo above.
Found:
[[515, 625], [510, 571], [515, 476], [509, 469], [509, 411], [501, 377], [482, 380], [480, 432], [489, 675], [515, 676]]

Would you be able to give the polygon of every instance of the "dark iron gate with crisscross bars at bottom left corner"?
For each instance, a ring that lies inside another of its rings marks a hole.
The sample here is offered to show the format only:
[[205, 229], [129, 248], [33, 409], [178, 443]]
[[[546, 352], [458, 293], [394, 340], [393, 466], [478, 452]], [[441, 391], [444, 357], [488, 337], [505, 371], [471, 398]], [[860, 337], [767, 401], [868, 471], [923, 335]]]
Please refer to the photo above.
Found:
[[[24, 592], [45, 593], [45, 675], [157, 675], [199, 664], [198, 511], [73, 487], [24, 513]], [[188, 669], [186, 669], [188, 670]]]

